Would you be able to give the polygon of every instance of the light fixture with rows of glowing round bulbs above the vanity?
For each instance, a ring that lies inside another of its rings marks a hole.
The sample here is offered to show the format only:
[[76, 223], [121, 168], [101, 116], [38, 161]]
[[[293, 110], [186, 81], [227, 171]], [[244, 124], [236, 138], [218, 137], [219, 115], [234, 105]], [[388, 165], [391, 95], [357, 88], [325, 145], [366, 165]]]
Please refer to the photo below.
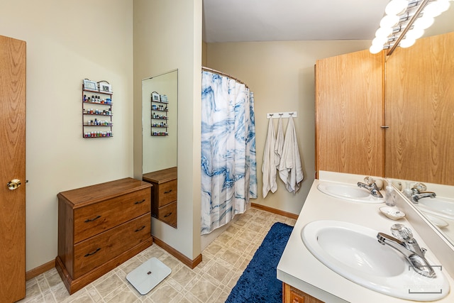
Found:
[[421, 38], [434, 17], [447, 11], [453, 0], [391, 0], [370, 46], [370, 53], [387, 50], [387, 55], [400, 46], [409, 48]]

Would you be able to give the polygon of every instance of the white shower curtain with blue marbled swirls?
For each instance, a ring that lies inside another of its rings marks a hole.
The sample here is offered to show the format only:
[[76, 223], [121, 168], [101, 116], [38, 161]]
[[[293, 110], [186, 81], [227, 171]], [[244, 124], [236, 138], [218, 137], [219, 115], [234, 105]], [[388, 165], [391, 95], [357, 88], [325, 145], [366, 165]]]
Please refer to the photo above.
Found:
[[202, 71], [201, 234], [257, 198], [254, 97], [235, 79]]

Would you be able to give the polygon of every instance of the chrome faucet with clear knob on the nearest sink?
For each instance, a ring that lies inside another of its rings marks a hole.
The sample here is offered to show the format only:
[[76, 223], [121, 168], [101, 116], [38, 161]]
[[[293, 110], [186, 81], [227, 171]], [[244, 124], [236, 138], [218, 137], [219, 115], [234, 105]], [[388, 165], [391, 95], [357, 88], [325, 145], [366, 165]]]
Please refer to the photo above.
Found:
[[413, 238], [410, 228], [405, 227], [403, 224], [394, 224], [391, 226], [391, 233], [397, 238], [386, 233], [378, 233], [378, 242], [402, 253], [411, 264], [411, 267], [420, 275], [436, 277], [435, 271], [424, 257], [426, 248], [419, 247], [418, 242]]

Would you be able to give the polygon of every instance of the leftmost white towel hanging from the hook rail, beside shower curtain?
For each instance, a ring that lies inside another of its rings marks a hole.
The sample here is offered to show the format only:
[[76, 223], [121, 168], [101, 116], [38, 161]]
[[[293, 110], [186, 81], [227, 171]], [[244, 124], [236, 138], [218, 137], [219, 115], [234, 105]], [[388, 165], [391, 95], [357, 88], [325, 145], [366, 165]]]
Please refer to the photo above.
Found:
[[263, 198], [267, 197], [268, 192], [276, 192], [277, 182], [276, 182], [276, 165], [275, 165], [275, 126], [272, 124], [272, 119], [268, 121], [268, 133], [265, 141], [265, 150], [263, 151], [263, 164], [262, 164], [262, 173], [263, 173], [263, 187], [262, 194]]

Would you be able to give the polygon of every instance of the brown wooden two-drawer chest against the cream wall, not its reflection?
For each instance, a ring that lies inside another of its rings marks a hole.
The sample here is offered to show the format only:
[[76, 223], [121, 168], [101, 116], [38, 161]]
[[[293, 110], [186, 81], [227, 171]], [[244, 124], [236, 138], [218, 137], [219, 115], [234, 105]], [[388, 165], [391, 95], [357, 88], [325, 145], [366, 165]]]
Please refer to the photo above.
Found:
[[125, 178], [57, 194], [55, 265], [70, 294], [153, 244], [151, 187]]

